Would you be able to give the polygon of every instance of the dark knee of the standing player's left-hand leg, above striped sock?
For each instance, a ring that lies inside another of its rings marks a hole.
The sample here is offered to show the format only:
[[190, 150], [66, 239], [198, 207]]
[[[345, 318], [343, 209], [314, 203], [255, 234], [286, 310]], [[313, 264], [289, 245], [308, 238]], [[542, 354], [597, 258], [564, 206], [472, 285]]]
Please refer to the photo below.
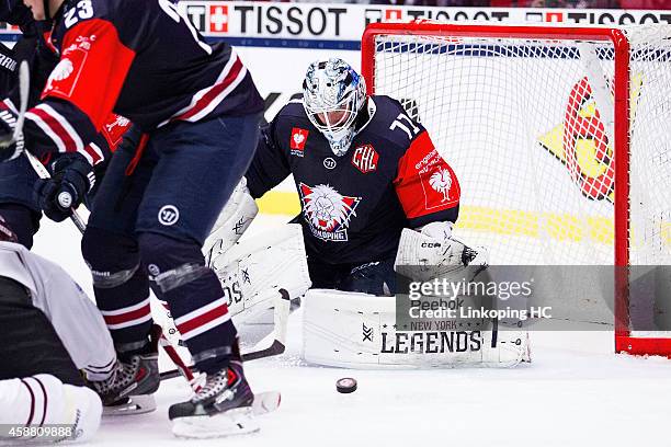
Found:
[[91, 270], [93, 286], [101, 289], [126, 284], [140, 267], [137, 242], [95, 227], [87, 228], [81, 253]]

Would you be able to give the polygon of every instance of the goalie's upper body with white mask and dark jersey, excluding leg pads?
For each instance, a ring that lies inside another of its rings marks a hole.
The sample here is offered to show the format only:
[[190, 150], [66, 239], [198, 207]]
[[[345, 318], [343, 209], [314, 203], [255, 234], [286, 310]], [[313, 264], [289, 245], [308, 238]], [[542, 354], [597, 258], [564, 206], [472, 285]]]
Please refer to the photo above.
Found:
[[294, 175], [312, 287], [394, 294], [401, 230], [448, 239], [457, 177], [427, 129], [398, 101], [368, 96], [345, 61], [310, 65], [303, 93], [262, 129], [249, 191]]

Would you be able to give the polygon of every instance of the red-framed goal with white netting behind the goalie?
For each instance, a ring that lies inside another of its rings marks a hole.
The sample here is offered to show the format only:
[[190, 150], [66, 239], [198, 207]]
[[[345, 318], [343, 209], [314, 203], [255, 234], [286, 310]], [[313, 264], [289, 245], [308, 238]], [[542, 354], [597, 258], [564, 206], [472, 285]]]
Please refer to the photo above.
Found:
[[630, 329], [671, 303], [628, 294], [629, 266], [671, 264], [671, 27], [375, 23], [362, 71], [428, 128], [492, 264], [622, 266], [615, 349], [671, 355]]

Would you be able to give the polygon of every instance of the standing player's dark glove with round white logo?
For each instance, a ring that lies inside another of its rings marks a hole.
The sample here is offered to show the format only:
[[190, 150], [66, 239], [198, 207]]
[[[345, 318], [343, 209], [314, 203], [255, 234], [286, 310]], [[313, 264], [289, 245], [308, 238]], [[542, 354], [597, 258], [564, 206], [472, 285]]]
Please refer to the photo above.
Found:
[[72, 215], [95, 183], [93, 167], [77, 152], [58, 157], [50, 179], [35, 183], [35, 202], [52, 220], [60, 222]]

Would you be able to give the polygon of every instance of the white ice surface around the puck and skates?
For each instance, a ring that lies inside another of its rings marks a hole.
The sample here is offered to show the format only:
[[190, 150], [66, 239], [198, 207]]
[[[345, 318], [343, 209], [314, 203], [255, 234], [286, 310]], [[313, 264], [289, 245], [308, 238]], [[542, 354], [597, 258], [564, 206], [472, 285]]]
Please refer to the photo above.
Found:
[[[278, 225], [260, 216], [251, 231]], [[72, 225], [46, 219], [35, 252], [90, 290]], [[244, 336], [246, 328], [242, 329]], [[282, 391], [261, 432], [238, 438], [180, 440], [168, 406], [189, 397], [182, 379], [161, 385], [158, 410], [107, 419], [95, 446], [671, 446], [671, 360], [613, 354], [612, 332], [532, 333], [533, 364], [515, 369], [344, 370], [299, 359], [300, 312], [288, 349], [248, 363], [257, 391]], [[162, 358], [163, 369], [170, 367]], [[354, 377], [359, 390], [336, 392]]]

